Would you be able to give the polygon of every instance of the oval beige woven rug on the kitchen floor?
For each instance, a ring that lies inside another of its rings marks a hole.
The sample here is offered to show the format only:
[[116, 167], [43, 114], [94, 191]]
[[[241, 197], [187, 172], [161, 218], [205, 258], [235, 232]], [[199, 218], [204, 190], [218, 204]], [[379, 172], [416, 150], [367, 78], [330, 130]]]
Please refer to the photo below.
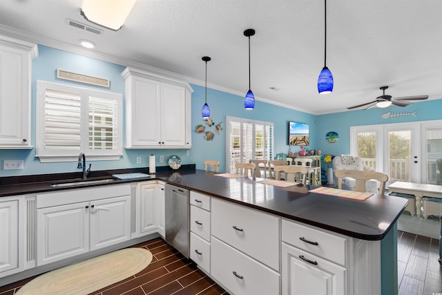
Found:
[[16, 294], [90, 294], [141, 272], [151, 261], [146, 249], [122, 249], [42, 274]]

